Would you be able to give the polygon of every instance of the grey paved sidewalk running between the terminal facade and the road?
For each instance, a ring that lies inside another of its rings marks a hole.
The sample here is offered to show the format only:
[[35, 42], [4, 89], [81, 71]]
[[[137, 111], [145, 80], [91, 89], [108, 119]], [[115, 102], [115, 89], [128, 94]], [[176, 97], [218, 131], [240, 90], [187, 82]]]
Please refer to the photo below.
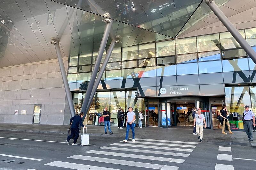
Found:
[[[22, 131], [22, 132], [36, 132], [36, 133], [59, 133], [67, 134], [70, 125], [40, 125], [40, 124], [9, 124], [0, 123], [1, 130], [5, 131]], [[125, 137], [126, 129], [117, 129], [117, 126], [111, 126], [111, 130], [114, 135], [105, 135], [104, 126], [87, 125], [87, 133], [92, 136], [101, 137]], [[170, 136], [175, 137], [176, 140], [191, 141], [197, 138], [197, 135], [192, 135], [192, 127], [147, 127], [147, 128], [135, 128], [135, 134], [138, 132], [141, 138], [148, 138], [149, 135], [153, 135], [154, 138], [165, 140]], [[80, 130], [82, 132], [82, 130]], [[84, 132], [85, 133], [85, 132]], [[228, 132], [227, 132], [228, 133]], [[80, 133], [81, 135], [82, 133]], [[168, 136], [168, 137], [166, 137]], [[244, 146], [256, 146], [256, 133], [254, 132], [255, 141], [248, 142], [248, 138], [245, 132], [234, 132], [233, 135], [229, 133], [227, 135], [221, 134], [220, 129], [204, 129], [203, 142], [207, 144], [228, 144], [228, 145], [244, 145]]]

